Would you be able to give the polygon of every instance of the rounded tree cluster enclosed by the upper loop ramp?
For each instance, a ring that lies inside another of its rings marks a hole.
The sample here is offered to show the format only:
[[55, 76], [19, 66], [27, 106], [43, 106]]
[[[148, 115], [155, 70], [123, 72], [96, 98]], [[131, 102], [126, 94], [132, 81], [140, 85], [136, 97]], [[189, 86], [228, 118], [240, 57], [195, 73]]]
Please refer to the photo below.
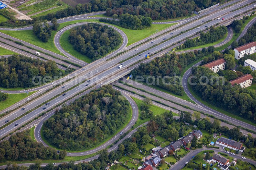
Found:
[[117, 31], [98, 23], [88, 23], [72, 28], [68, 39], [75, 50], [93, 60], [108, 54], [122, 42]]

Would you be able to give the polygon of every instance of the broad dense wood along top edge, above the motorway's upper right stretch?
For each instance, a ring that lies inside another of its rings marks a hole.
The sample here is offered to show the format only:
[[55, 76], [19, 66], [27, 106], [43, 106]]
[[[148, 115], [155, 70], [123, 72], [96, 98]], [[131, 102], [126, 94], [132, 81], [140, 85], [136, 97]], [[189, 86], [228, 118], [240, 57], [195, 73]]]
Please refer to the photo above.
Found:
[[[92, 1], [91, 1], [92, 2]], [[199, 7], [208, 7], [220, 1], [198, 1], [198, 0], [161, 0], [161, 1], [111, 1], [108, 5], [106, 15], [113, 16], [131, 14], [136, 16], [151, 17], [153, 20], [177, 18], [191, 15], [192, 11], [199, 11]], [[198, 4], [198, 5], [197, 5]]]

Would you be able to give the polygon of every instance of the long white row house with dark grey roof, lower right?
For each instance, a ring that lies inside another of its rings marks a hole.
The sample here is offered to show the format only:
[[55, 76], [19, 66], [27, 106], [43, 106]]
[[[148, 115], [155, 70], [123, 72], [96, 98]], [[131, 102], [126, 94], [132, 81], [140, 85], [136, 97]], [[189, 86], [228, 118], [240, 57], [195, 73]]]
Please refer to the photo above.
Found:
[[240, 143], [240, 142], [236, 142], [236, 141], [233, 141], [233, 140], [230, 140], [230, 139], [227, 139], [227, 138], [219, 138], [217, 141], [216, 141], [216, 144], [219, 144], [219, 145], [222, 145], [222, 146], [225, 146], [227, 148], [230, 148], [230, 149], [233, 149], [233, 150], [239, 150], [240, 152], [243, 152], [244, 151], [244, 147], [243, 147], [243, 144]]

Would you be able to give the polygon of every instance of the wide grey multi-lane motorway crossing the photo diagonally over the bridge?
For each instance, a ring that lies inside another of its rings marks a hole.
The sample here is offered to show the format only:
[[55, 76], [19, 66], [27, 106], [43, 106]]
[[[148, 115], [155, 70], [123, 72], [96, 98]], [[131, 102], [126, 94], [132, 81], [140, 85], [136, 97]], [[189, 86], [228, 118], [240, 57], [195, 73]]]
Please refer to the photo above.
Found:
[[[233, 17], [234, 15], [237, 15], [237, 14], [242, 13], [243, 11], [249, 10], [249, 9], [251, 9], [252, 7], [253, 7], [253, 5], [249, 5], [249, 6], [247, 6], [247, 7], [244, 7], [244, 8], [242, 8], [242, 9], [240, 9], [240, 10], [237, 10], [237, 11], [231, 12], [231, 13], [229, 13], [229, 14], [225, 14], [225, 15], [223, 15], [223, 16], [219, 16], [219, 17], [220, 17], [220, 18], [225, 17], [225, 19], [228, 19], [228, 18]], [[231, 7], [228, 7], [228, 8], [230, 8], [229, 10], [233, 10], [234, 6], [231, 6]], [[220, 13], [220, 14], [218, 14], [218, 15], [221, 15], [221, 12], [223, 13], [223, 11], [219, 11], [218, 13]], [[214, 14], [214, 16], [216, 16], [216, 14]], [[203, 20], [203, 19], [204, 19], [204, 20], [209, 20], [208, 17], [212, 17], [212, 16], [211, 16], [211, 15], [206, 16], [205, 18], [202, 18], [202, 20]], [[216, 17], [217, 17], [217, 16], [216, 16]], [[217, 22], [219, 22], [219, 20], [214, 19], [214, 20], [208, 22], [207, 25], [208, 25], [208, 26], [210, 26], [210, 25], [215, 25]], [[167, 40], [166, 42], [164, 42], [164, 43], [162, 43], [162, 44], [159, 44], [159, 45], [153, 47], [153, 48], [150, 49], [150, 50], [146, 50], [146, 49], [147, 49], [148, 47], [153, 46], [153, 45], [156, 44], [156, 43], [160, 43], [161, 41], [163, 41], [163, 40], [162, 40], [163, 38], [170, 38], [170, 37], [172, 37], [172, 36], [174, 36], [174, 35], [179, 34], [181, 31], [184, 32], [184, 31], [186, 31], [187, 29], [189, 29], [189, 28], [191, 28], [191, 27], [196, 27], [196, 26], [201, 25], [201, 24], [202, 24], [202, 21], [201, 21], [201, 20], [193, 21], [193, 22], [191, 22], [191, 23], [185, 25], [184, 27], [181, 27], [181, 28], [179, 28], [179, 29], [173, 31], [173, 35], [170, 35], [170, 34], [168, 33], [168, 34], [165, 34], [165, 35], [162, 35], [162, 36], [158, 37], [156, 40], [154, 40], [154, 43], [153, 43], [153, 44], [151, 44], [150, 42], [148, 42], [148, 43], [145, 43], [145, 44], [143, 44], [143, 45], [137, 47], [137, 48], [139, 49], [139, 51], [145, 50], [145, 52], [143, 52], [143, 53], [137, 53], [137, 52], [135, 52], [134, 50], [132, 50], [132, 51], [128, 51], [128, 52], [126, 52], [126, 53], [124, 53], [124, 54], [122, 54], [122, 55], [120, 55], [120, 56], [118, 56], [118, 57], [116, 57], [116, 58], [114, 58], [114, 59], [111, 59], [111, 60], [109, 60], [109, 61], [104, 61], [104, 62], [102, 62], [102, 64], [101, 64], [101, 63], [99, 64], [100, 66], [99, 66], [98, 64], [95, 65], [95, 63], [89, 64], [89, 65], [85, 68], [85, 71], [77, 70], [76, 72], [72, 73], [72, 74], [80, 73], [80, 76], [78, 76], [78, 77], [75, 78], [74, 80], [71, 80], [70, 82], [67, 82], [67, 83], [65, 83], [65, 84], [63, 85], [63, 86], [65, 86], [65, 89], [67, 89], [67, 87], [74, 86], [75, 84], [77, 84], [77, 83], [79, 83], [79, 82], [81, 82], [81, 81], [83, 81], [83, 80], [91, 79], [91, 82], [90, 82], [89, 86], [85, 86], [85, 84], [87, 84], [86, 82], [85, 82], [85, 83], [82, 83], [81, 85], [79, 85], [79, 86], [73, 88], [72, 90], [69, 90], [68, 92], [66, 92], [66, 95], [65, 95], [65, 96], [62, 96], [62, 95], [61, 95], [61, 94], [62, 94], [62, 91], [63, 91], [63, 89], [61, 89], [61, 86], [60, 86], [60, 87], [57, 87], [57, 88], [55, 88], [54, 90], [52, 90], [52, 91], [46, 93], [45, 95], [43, 95], [40, 99], [37, 99], [36, 101], [31, 101], [32, 103], [26, 104], [26, 105], [24, 106], [24, 107], [25, 107], [25, 110], [26, 110], [26, 111], [27, 111], [27, 110], [30, 110], [30, 109], [34, 108], [33, 105], [38, 105], [38, 103], [39, 103], [39, 104], [40, 104], [40, 103], [43, 103], [43, 102], [45, 102], [45, 100], [50, 99], [50, 98], [52, 98], [52, 97], [55, 96], [55, 95], [59, 95], [57, 98], [51, 100], [51, 101], [50, 101], [50, 104], [49, 104], [48, 106], [46, 106], [46, 107], [47, 107], [46, 110], [49, 110], [51, 107], [56, 106], [58, 103], [61, 103], [62, 101], [68, 99], [70, 96], [73, 96], [73, 95], [77, 94], [79, 91], [82, 91], [82, 90], [86, 89], [87, 87], [92, 87], [93, 84], [96, 83], [96, 82], [99, 82], [100, 79], [101, 79], [101, 80], [105, 80], [106, 78], [108, 78], [108, 77], [111, 76], [111, 75], [115, 75], [115, 74], [117, 74], [118, 72], [120, 72], [120, 71], [122, 71], [122, 70], [127, 70], [127, 68], [128, 68], [131, 64], [136, 63], [139, 59], [142, 59], [143, 56], [141, 56], [141, 57], [138, 57], [138, 56], [137, 56], [137, 57], [133, 57], [133, 58], [131, 58], [131, 59], [125, 61], [125, 62], [124, 62], [124, 67], [123, 67], [122, 69], [118, 69], [118, 64], [117, 64], [117, 63], [121, 62], [123, 59], [128, 58], [129, 56], [132, 56], [132, 55], [135, 55], [135, 54], [143, 54], [143, 55], [144, 55], [144, 54], [146, 54], [146, 53], [148, 53], [148, 52], [154, 53], [154, 52], [158, 51], [158, 50], [161, 49], [161, 48], [167, 47], [167, 46], [169, 46], [170, 44], [173, 44], [173, 43], [178, 42], [178, 41], [180, 41], [180, 40], [182, 40], [182, 39], [184, 39], [184, 38], [186, 38], [186, 37], [188, 37], [188, 36], [190, 36], [190, 35], [195, 34], [195, 33], [198, 32], [199, 30], [204, 30], [204, 29], [205, 29], [204, 26], [205, 26], [206, 24], [203, 24], [203, 25], [201, 26], [201, 28], [199, 28], [199, 29], [194, 28], [194, 29], [192, 29], [192, 30], [190, 30], [190, 31], [188, 31], [188, 32], [186, 32], [186, 33], [184, 33], [184, 34], [178, 35], [177, 37], [175, 37], [175, 38], [173, 38], [173, 39]], [[152, 56], [152, 57], [153, 57], [153, 56]], [[102, 59], [102, 60], [103, 60], [103, 59]], [[148, 60], [145, 60], [145, 61], [148, 61]], [[144, 62], [145, 62], [145, 61], [144, 61]], [[136, 65], [135, 65], [135, 66], [136, 66]], [[97, 67], [97, 68], [95, 68], [95, 67]], [[98, 72], [97, 74], [95, 74], [95, 71], [96, 71], [96, 70], [99, 70], [99, 72]], [[89, 74], [89, 73], [88, 73], [89, 71], [92, 71], [92, 72], [93, 72], [92, 74], [94, 74], [94, 75]], [[69, 76], [72, 76], [72, 74], [69, 75]], [[67, 76], [66, 76], [66, 77], [67, 77]], [[59, 80], [59, 81], [62, 81], [62, 80]], [[56, 84], [57, 84], [57, 83], [56, 83]], [[100, 83], [97, 84], [97, 88], [98, 88], [99, 86], [100, 86]], [[71, 101], [72, 101], [72, 100], [71, 100]], [[42, 110], [42, 107], [44, 107], [44, 106], [40, 106], [39, 108], [35, 109], [34, 111], [28, 113], [26, 116], [24, 116], [24, 117], [22, 117], [22, 118], [20, 118], [20, 119], [18, 119], [18, 120], [16, 120], [16, 121], [14, 121], [12, 124], [10, 124], [10, 125], [6, 126], [5, 128], [1, 129], [1, 130], [0, 130], [0, 137], [5, 136], [5, 135], [8, 134], [10, 131], [12, 131], [12, 130], [18, 128], [18, 127], [21, 126], [22, 124], [24, 124], [24, 123], [28, 122], [29, 120], [33, 119], [34, 117], [36, 117], [37, 115], [39, 115], [39, 114], [42, 113], [43, 111], [46, 111], [46, 110]], [[1, 120], [0, 126], [4, 125], [4, 123], [2, 122], [2, 120], [4, 121], [5, 118], [8, 118], [8, 119], [12, 120], [12, 119], [14, 119], [14, 118], [16, 118], [16, 117], [18, 117], [18, 116], [24, 114], [24, 112], [23, 112], [23, 111], [20, 111], [20, 110], [15, 110], [14, 112], [15, 112], [15, 113], [12, 112], [12, 113], [8, 114], [7, 116], [9, 116], [9, 117], [1, 118], [1, 119], [0, 119], [0, 120]], [[208, 112], [208, 111], [205, 110], [205, 112]], [[208, 112], [208, 114], [211, 114], [211, 113], [212, 113], [212, 112]], [[232, 120], [232, 122], [233, 122], [233, 120]], [[235, 120], [234, 122], [237, 122], [237, 120]], [[234, 122], [233, 122], [233, 123], [234, 123]], [[16, 124], [16, 123], [18, 123], [19, 125], [18, 125], [18, 126], [14, 126], [14, 124]], [[235, 123], [234, 123], [234, 124], [235, 124]], [[255, 128], [254, 128], [254, 129], [255, 129]]]

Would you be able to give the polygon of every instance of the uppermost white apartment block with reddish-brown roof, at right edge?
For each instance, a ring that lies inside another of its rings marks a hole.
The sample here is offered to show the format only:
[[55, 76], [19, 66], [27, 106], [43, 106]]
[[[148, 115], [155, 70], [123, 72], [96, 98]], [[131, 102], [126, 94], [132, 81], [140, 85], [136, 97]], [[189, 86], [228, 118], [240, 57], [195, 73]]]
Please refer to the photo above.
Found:
[[237, 48], [234, 48], [235, 58], [240, 59], [244, 56], [244, 54], [253, 54], [256, 52], [255, 50], [256, 42], [249, 42]]

